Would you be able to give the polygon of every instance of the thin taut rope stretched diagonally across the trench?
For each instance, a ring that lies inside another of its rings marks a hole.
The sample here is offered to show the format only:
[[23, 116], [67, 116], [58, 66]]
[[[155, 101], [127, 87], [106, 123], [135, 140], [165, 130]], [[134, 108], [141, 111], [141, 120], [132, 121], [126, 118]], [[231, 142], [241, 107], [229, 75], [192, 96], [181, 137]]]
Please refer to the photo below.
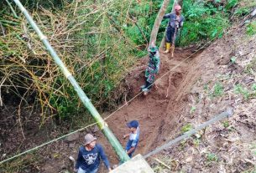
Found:
[[[217, 38], [217, 36], [216, 36], [215, 38]], [[209, 43], [212, 43], [212, 41], [213, 41], [215, 38], [212, 38], [212, 40], [210, 40]], [[197, 53], [197, 52], [199, 52], [201, 49], [205, 48], [206, 45], [209, 44], [209, 43], [204, 44], [201, 48], [197, 49], [195, 53]], [[179, 67], [180, 64], [183, 64], [187, 59], [190, 59], [191, 56], [193, 56], [195, 53], [191, 53], [190, 56], [188, 56], [186, 59], [183, 59], [182, 61], [180, 61], [179, 64], [176, 64], [175, 67], [173, 67], [173, 68], [170, 69], [168, 72], [166, 72], [165, 74], [163, 74], [161, 77], [159, 77], [159, 79], [164, 78], [165, 75], [169, 74], [172, 70], [174, 70], [174, 69], [176, 69], [177, 67]], [[159, 81], [159, 79], [156, 79], [156, 80], [154, 81], [154, 83], [155, 83], [156, 81]], [[152, 83], [151, 85], [153, 85], [154, 83]], [[113, 114], [116, 114], [116, 113], [118, 112], [118, 110], [122, 109], [122, 108], [123, 108], [124, 106], [126, 106], [128, 103], [132, 102], [133, 99], [136, 99], [136, 98], [138, 97], [138, 95], [140, 95], [140, 94], [142, 94], [142, 93], [143, 93], [143, 91], [141, 91], [141, 92], [139, 92], [138, 94], [136, 94], [132, 99], [128, 100], [127, 103], [125, 103], [125, 104], [123, 104], [122, 106], [120, 106], [118, 109], [116, 109], [114, 112], [112, 112], [112, 114], [109, 114], [109, 115], [108, 115], [106, 118], [104, 118], [103, 120], [107, 120], [107, 119], [109, 119], [110, 117], [112, 117]], [[13, 155], [12, 157], [10, 157], [10, 158], [8, 158], [8, 159], [6, 159], [6, 160], [1, 161], [1, 162], [0, 162], [0, 165], [2, 165], [3, 163], [7, 162], [8, 160], [13, 160], [13, 159], [15, 159], [15, 158], [17, 158], [17, 157], [20, 156], [20, 155], [24, 155], [24, 154], [27, 154], [27, 153], [33, 151], [33, 150], [37, 150], [37, 149], [43, 147], [44, 145], [49, 145], [49, 144], [51, 144], [51, 143], [53, 143], [53, 142], [55, 142], [55, 141], [57, 141], [57, 140], [60, 140], [60, 139], [62, 139], [62, 138], [65, 138], [65, 137], [68, 136], [68, 135], [75, 134], [76, 132], [81, 131], [81, 130], [84, 130], [84, 129], [86, 129], [86, 128], [92, 126], [92, 125], [97, 125], [97, 123], [93, 123], [93, 124], [91, 124], [91, 125], [87, 125], [86, 127], [82, 127], [82, 128], [79, 129], [79, 130], [75, 130], [75, 131], [73, 131], [73, 132], [71, 132], [71, 133], [69, 133], [69, 134], [62, 135], [62, 136], [60, 136], [59, 138], [56, 138], [56, 139], [54, 139], [54, 140], [50, 140], [50, 141], [48, 141], [48, 142], [45, 142], [45, 143], [42, 144], [42, 145], [38, 145], [38, 146], [36, 146], [36, 147], [34, 147], [34, 148], [32, 148], [32, 149], [26, 150], [26, 151], [24, 151], [24, 152], [22, 152], [22, 153], [20, 153], [20, 154], [18, 154], [18, 155]]]

